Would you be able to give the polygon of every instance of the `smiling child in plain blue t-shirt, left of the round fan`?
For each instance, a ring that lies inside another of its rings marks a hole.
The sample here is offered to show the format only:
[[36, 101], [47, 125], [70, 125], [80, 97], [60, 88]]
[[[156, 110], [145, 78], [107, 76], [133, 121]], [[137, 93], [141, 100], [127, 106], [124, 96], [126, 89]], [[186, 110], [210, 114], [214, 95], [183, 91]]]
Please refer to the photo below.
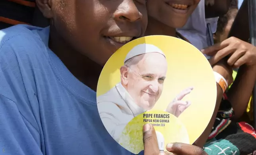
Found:
[[[50, 26], [0, 30], [0, 154], [129, 155], [96, 105], [102, 66], [144, 35], [145, 0], [37, 0]], [[93, 66], [93, 67], [92, 67]]]

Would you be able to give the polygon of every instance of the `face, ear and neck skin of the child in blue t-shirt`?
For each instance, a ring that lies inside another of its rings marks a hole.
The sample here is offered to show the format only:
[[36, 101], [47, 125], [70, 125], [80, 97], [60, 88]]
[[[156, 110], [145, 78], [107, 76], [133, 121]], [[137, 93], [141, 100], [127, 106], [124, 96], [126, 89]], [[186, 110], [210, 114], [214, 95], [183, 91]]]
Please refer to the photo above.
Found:
[[124, 45], [110, 37], [139, 38], [147, 25], [145, 0], [37, 0], [37, 5], [50, 19], [50, 49], [93, 90], [104, 64]]

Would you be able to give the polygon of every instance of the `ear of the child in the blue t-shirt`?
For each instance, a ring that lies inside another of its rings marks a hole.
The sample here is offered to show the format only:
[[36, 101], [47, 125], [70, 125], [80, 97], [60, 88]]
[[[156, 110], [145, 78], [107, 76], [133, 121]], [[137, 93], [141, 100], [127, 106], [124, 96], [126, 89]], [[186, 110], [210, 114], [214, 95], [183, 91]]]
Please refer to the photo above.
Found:
[[43, 13], [43, 16], [45, 18], [52, 18], [52, 0], [36, 0], [37, 7], [40, 9], [40, 11]]

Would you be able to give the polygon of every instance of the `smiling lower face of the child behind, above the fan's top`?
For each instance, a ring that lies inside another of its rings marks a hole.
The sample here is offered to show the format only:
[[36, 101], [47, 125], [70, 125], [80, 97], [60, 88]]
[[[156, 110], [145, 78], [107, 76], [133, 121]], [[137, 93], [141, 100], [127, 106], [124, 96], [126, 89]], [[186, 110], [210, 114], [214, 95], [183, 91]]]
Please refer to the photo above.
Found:
[[200, 0], [148, 0], [148, 16], [172, 28], [181, 28]]

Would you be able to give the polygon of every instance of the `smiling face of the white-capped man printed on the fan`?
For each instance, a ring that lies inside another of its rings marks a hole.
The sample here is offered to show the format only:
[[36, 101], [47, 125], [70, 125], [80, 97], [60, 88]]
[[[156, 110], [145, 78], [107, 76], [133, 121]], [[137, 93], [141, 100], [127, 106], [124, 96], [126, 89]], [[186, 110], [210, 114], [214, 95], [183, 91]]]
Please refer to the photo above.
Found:
[[135, 64], [121, 67], [121, 83], [138, 106], [150, 110], [163, 91], [167, 62], [160, 53], [146, 53], [134, 59]]

